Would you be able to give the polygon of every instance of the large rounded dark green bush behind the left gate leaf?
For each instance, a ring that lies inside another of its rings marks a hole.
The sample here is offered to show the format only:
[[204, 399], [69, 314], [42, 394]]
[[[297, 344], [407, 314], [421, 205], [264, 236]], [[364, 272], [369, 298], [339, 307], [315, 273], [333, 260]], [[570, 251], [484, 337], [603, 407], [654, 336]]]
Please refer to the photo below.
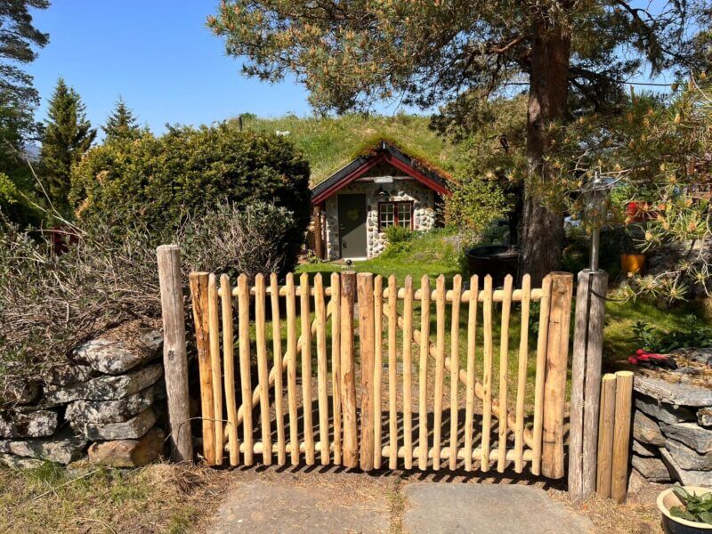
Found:
[[292, 214], [277, 246], [290, 269], [309, 223], [309, 165], [273, 134], [174, 128], [90, 150], [73, 170], [70, 199], [83, 225], [140, 221], [156, 245], [221, 202], [241, 209], [268, 202]]

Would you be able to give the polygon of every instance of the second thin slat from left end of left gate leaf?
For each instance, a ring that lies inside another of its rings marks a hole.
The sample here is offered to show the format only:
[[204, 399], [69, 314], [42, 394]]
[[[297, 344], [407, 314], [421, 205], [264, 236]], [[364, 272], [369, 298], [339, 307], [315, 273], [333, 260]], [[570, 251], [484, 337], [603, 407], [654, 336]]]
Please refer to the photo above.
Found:
[[235, 340], [232, 332], [232, 287], [230, 277], [220, 277], [223, 299], [223, 375], [225, 380], [225, 404], [228, 412], [228, 449], [230, 465], [239, 465], [238, 405], [235, 397]]

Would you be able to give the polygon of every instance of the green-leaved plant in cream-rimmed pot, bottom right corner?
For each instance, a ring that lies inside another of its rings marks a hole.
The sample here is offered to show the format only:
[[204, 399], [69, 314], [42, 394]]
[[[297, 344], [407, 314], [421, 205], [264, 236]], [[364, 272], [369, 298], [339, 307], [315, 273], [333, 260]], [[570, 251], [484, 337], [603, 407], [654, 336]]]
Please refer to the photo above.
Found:
[[676, 486], [660, 493], [657, 504], [666, 534], [712, 533], [712, 490]]

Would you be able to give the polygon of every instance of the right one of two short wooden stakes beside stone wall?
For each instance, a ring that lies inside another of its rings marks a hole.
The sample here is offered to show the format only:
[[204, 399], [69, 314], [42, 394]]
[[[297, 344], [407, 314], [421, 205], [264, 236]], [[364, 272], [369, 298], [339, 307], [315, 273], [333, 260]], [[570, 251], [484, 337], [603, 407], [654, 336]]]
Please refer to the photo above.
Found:
[[627, 496], [628, 450], [630, 447], [630, 417], [633, 401], [633, 373], [616, 373], [616, 420], [613, 425], [613, 461], [611, 466], [611, 498], [622, 503]]

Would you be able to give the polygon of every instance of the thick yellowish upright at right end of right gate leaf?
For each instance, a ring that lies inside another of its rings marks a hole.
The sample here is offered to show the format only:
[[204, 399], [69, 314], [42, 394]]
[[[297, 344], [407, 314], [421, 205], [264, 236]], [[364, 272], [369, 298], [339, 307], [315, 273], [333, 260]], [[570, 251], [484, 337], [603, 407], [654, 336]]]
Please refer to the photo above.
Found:
[[[570, 272], [552, 272], [551, 280], [551, 311], [546, 339], [541, 473], [548, 478], [560, 479], [563, 476], [563, 409], [566, 401], [573, 275]], [[544, 325], [539, 328], [542, 327]]]

